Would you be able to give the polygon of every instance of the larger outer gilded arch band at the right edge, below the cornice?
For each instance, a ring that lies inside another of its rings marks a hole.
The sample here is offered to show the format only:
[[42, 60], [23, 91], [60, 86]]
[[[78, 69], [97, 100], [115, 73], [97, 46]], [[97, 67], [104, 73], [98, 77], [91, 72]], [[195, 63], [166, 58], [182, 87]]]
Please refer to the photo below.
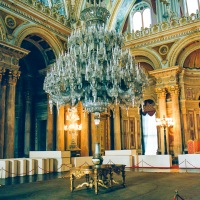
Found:
[[[179, 41], [177, 41], [171, 51], [169, 52], [168, 57], [170, 58], [169, 60], [169, 66], [174, 66], [176, 65], [176, 62], [178, 60], [178, 57], [180, 55], [180, 52], [182, 52], [182, 50], [188, 46], [190, 43], [194, 42], [194, 41], [199, 41], [200, 38], [200, 32], [196, 32], [193, 33], [192, 35], [189, 35]], [[180, 65], [182, 67], [182, 65]]]

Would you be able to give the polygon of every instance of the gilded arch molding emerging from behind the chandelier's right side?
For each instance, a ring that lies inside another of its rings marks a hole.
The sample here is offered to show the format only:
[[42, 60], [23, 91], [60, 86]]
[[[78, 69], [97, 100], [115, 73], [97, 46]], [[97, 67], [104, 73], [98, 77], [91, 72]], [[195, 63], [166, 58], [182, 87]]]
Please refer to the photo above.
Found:
[[151, 66], [153, 64], [153, 68], [154, 69], [160, 69], [161, 68], [161, 64], [160, 64], [160, 61], [159, 59], [152, 54], [151, 51], [147, 51], [147, 50], [144, 50], [144, 49], [140, 49], [140, 50], [136, 50], [136, 49], [130, 49], [130, 52], [133, 56], [144, 56], [147, 58], [147, 60], [150, 60], [150, 62], [152, 62], [150, 64], [150, 62], [148, 62]]

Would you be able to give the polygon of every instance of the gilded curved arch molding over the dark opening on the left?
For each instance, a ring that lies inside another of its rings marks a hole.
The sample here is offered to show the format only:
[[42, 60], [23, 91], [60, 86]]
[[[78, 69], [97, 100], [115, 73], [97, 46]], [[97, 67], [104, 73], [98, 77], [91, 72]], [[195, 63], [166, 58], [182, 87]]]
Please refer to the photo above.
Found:
[[15, 45], [20, 47], [24, 38], [30, 34], [38, 35], [41, 36], [43, 39], [45, 39], [46, 42], [54, 50], [56, 56], [58, 56], [60, 53], [64, 51], [61, 41], [59, 41], [58, 38], [53, 33], [48, 31], [44, 27], [37, 25], [27, 25], [23, 27], [23, 29], [20, 30], [18, 32], [18, 35], [16, 35], [15, 37], [15, 42], [14, 42]]

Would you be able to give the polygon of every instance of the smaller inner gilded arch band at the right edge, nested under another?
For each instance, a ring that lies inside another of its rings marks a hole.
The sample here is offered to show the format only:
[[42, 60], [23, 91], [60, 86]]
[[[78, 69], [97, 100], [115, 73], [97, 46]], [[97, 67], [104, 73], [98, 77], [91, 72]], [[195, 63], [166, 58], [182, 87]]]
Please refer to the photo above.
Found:
[[183, 52], [181, 52], [179, 58], [178, 58], [178, 65], [183, 67], [185, 59], [195, 50], [200, 49], [200, 43], [194, 43], [192, 45], [190, 45], [189, 47], [187, 47], [186, 49], [184, 49]]

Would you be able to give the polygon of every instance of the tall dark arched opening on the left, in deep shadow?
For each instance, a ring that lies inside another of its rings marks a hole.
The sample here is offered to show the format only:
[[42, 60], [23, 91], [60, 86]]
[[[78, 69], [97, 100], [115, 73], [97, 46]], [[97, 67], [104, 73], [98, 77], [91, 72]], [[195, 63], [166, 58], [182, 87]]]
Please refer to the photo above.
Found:
[[[35, 34], [26, 36], [21, 47], [30, 53], [19, 63], [21, 75], [16, 86], [15, 157], [28, 157], [30, 150], [47, 150], [48, 103], [43, 91], [44, 69], [55, 61], [55, 54], [47, 41]], [[52, 144], [53, 149], [55, 144]]]

